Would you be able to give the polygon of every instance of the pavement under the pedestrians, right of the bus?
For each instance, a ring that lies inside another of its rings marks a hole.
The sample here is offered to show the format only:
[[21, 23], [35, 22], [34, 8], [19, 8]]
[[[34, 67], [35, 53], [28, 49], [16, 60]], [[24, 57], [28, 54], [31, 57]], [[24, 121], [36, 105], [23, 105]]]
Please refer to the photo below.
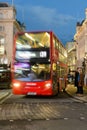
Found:
[[79, 99], [83, 102], [87, 102], [87, 87], [83, 88], [83, 95], [79, 96], [76, 94], [77, 88], [74, 85], [68, 84], [66, 87], [66, 92], [72, 97]]

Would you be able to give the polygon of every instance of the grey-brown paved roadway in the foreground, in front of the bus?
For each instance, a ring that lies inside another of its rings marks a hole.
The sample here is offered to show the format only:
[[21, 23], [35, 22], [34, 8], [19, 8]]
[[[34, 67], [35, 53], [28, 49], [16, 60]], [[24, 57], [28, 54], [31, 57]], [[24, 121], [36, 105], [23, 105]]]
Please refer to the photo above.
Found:
[[0, 104], [0, 130], [86, 130], [87, 103], [55, 97], [10, 95]]

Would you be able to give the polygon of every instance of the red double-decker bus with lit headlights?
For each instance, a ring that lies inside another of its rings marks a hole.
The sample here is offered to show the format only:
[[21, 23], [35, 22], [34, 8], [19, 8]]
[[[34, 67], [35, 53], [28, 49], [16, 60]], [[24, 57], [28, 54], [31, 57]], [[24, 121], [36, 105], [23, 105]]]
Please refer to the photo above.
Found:
[[52, 31], [15, 35], [12, 91], [22, 95], [56, 95], [65, 88], [67, 51]]

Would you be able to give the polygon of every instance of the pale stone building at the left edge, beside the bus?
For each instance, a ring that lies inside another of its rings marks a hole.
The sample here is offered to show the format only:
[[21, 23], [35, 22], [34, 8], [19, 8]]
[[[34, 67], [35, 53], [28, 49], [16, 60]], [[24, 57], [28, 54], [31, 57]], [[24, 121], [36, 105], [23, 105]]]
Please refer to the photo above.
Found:
[[0, 58], [6, 52], [9, 64], [12, 62], [14, 34], [22, 29], [16, 20], [16, 9], [0, 2]]

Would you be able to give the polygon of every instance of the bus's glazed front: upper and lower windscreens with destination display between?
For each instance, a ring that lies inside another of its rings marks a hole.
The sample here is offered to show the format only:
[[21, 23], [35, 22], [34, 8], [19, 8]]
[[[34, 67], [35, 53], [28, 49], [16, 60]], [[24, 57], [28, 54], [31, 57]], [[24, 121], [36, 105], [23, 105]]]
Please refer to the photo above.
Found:
[[15, 79], [42, 81], [50, 78], [49, 43], [47, 32], [18, 35], [14, 62]]

